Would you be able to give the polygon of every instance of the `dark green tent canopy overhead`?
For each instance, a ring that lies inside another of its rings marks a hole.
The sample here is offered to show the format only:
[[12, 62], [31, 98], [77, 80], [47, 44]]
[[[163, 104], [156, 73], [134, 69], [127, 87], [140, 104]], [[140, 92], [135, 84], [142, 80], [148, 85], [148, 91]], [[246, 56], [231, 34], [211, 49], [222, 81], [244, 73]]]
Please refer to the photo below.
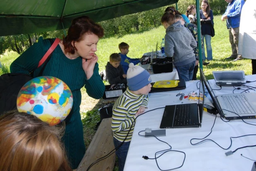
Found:
[[68, 28], [87, 15], [95, 22], [171, 5], [178, 0], [1, 0], [0, 36]]

